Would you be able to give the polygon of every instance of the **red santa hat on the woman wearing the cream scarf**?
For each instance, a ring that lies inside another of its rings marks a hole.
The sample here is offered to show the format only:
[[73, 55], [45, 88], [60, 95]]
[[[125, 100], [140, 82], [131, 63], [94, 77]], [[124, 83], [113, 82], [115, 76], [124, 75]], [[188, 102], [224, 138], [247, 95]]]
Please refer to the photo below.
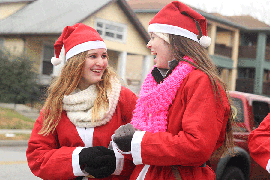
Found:
[[65, 47], [66, 62], [69, 58], [81, 52], [92, 49], [106, 49], [104, 40], [98, 32], [82, 23], [73, 26], [66, 26], [63, 33], [54, 44], [55, 56], [52, 57], [51, 62], [57, 66], [61, 63], [62, 58], [60, 52], [62, 47]]

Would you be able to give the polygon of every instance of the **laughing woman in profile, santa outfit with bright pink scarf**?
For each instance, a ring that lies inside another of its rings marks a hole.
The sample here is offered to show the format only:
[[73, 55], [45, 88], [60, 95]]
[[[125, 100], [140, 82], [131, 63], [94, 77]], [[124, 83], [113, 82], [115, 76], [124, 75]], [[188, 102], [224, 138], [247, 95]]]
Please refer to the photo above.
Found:
[[[202, 30], [200, 41], [195, 21]], [[204, 49], [211, 43], [206, 24], [179, 1], [149, 22], [147, 47], [156, 65], [142, 85], [131, 124], [112, 137], [136, 165], [132, 180], [214, 180], [205, 162], [231, 153], [231, 101]]]

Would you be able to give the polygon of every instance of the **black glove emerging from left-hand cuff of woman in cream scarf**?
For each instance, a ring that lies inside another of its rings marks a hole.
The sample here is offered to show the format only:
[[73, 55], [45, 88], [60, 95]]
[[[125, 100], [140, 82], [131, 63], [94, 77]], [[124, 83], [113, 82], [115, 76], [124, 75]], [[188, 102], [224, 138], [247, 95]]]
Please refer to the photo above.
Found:
[[[103, 146], [102, 146], [103, 147]], [[101, 167], [100, 165], [96, 164], [94, 159], [99, 156], [104, 156], [104, 152], [98, 149], [97, 147], [89, 147], [89, 148], [84, 148], [82, 151], [79, 153], [79, 164], [82, 166], [84, 164], [87, 164], [88, 166], [91, 167]]]

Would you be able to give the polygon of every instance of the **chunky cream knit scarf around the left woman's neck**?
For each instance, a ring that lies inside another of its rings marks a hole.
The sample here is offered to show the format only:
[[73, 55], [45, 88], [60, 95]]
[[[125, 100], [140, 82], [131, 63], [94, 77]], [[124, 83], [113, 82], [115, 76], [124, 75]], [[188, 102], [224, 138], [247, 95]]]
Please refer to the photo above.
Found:
[[111, 84], [113, 88], [107, 89], [109, 107], [107, 111], [101, 108], [101, 111], [98, 113], [99, 120], [95, 119], [92, 121], [93, 106], [98, 95], [96, 84], [90, 85], [83, 91], [76, 88], [69, 95], [64, 96], [62, 108], [67, 112], [67, 117], [75, 126], [81, 128], [97, 127], [111, 120], [121, 91], [121, 84], [118, 79], [112, 79]]

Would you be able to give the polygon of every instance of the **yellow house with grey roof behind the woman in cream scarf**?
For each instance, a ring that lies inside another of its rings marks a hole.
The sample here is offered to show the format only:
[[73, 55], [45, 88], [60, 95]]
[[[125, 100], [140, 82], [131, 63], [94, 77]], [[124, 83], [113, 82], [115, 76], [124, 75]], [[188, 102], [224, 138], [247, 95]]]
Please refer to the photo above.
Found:
[[[1, 11], [12, 9], [16, 2], [1, 3]], [[65, 26], [79, 22], [100, 33], [108, 49], [109, 64], [135, 93], [153, 65], [146, 47], [148, 32], [125, 0], [35, 0], [12, 12], [1, 15], [1, 48], [30, 55], [40, 85], [49, 85], [64, 64], [53, 66], [50, 62], [55, 41]]]

